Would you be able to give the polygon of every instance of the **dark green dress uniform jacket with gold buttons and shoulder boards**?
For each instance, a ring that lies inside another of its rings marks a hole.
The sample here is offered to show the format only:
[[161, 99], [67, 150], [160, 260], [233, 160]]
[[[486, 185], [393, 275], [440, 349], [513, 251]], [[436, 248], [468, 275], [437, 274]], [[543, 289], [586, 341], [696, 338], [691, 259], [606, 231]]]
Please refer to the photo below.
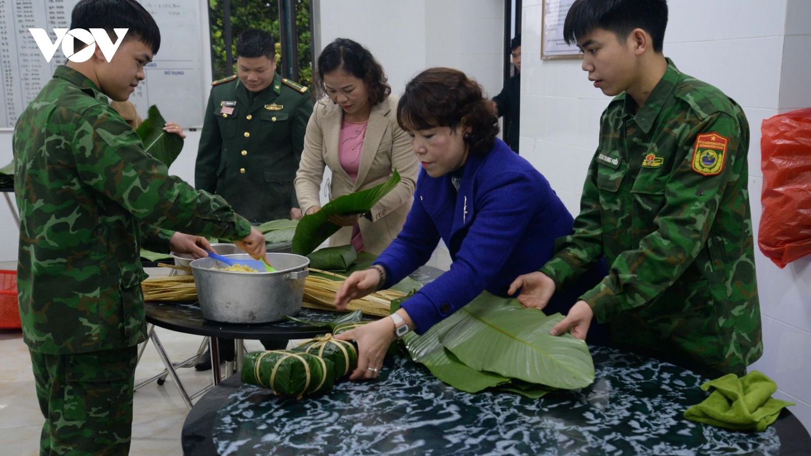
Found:
[[276, 75], [260, 92], [215, 81], [197, 152], [195, 187], [221, 195], [251, 222], [290, 218], [293, 179], [312, 114], [307, 88]]

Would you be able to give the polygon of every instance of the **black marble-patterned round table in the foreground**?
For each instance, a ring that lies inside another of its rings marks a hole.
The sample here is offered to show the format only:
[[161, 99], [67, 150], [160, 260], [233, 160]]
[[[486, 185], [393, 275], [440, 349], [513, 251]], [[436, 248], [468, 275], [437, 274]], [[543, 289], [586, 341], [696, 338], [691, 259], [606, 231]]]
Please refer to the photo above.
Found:
[[689, 369], [612, 347], [591, 346], [595, 381], [530, 399], [468, 394], [420, 364], [388, 359], [378, 381], [341, 381], [300, 401], [231, 376], [208, 391], [183, 424], [183, 453], [549, 454], [808, 456], [811, 437], [784, 409], [764, 432], [734, 432], [684, 419], [709, 380]]

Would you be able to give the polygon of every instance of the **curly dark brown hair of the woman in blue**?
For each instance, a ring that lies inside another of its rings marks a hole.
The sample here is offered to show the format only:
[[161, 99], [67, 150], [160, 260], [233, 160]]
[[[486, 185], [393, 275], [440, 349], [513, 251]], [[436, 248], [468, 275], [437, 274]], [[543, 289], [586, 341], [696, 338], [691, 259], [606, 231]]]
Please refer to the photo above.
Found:
[[490, 152], [499, 134], [498, 118], [482, 86], [453, 68], [428, 68], [405, 84], [397, 104], [397, 123], [407, 131], [469, 127], [465, 142], [470, 153], [478, 156]]

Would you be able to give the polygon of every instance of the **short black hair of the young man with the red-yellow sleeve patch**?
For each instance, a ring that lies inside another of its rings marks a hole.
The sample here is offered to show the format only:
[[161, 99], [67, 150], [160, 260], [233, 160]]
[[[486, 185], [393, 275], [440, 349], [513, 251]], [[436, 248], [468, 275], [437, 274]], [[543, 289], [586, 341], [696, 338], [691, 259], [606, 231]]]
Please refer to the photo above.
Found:
[[577, 43], [596, 28], [623, 40], [634, 28], [650, 33], [654, 51], [662, 52], [667, 28], [667, 0], [575, 0], [563, 24], [567, 44]]

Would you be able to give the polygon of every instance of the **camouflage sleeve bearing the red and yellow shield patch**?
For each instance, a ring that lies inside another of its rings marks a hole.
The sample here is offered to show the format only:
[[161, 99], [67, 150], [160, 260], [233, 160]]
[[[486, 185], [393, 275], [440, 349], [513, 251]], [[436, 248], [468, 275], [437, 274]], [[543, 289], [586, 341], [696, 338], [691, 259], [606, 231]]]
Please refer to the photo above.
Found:
[[[689, 128], [680, 130], [680, 145], [673, 151], [678, 165], [664, 184], [664, 200], [652, 226], [628, 227], [649, 233], [636, 248], [621, 252], [603, 282], [581, 296], [599, 322], [646, 305], [672, 286], [706, 243], [719, 201], [740, 181], [740, 161], [747, 153], [741, 144], [745, 133], [731, 115], [718, 112], [692, 126], [683, 125]], [[716, 174], [702, 174], [696, 170], [693, 150], [698, 135], [712, 133], [728, 140], [727, 150]]]

